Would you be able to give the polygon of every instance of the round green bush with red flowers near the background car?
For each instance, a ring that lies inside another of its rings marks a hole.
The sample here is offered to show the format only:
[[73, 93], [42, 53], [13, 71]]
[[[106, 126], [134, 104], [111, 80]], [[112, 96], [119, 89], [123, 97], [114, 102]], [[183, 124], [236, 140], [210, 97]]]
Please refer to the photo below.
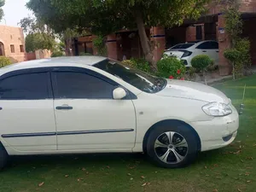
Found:
[[181, 79], [186, 72], [183, 61], [177, 60], [176, 57], [168, 56], [157, 62], [157, 69], [158, 75], [163, 78]]

